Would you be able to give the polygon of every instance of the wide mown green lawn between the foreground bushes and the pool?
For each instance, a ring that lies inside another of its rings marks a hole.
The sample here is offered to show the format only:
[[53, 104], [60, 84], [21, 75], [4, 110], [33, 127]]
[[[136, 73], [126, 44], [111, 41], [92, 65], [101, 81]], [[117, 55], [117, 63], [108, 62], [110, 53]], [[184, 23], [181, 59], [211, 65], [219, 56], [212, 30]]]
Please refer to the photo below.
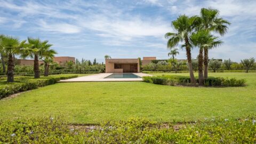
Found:
[[171, 122], [255, 114], [256, 73], [210, 73], [209, 76], [245, 78], [248, 85], [217, 88], [144, 82], [58, 83], [0, 100], [0, 117], [63, 115], [70, 123], [98, 123], [131, 117]]

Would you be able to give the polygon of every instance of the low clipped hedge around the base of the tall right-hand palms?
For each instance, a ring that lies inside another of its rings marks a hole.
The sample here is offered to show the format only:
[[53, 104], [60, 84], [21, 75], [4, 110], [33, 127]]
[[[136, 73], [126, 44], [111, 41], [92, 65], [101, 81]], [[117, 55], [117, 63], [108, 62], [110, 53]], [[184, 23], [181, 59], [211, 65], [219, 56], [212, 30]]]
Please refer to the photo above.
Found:
[[[142, 77], [144, 82], [161, 84], [161, 85], [190, 85], [189, 76], [145, 76]], [[198, 78], [196, 78], [198, 84]], [[209, 77], [205, 79], [205, 86], [245, 86], [245, 79]]]

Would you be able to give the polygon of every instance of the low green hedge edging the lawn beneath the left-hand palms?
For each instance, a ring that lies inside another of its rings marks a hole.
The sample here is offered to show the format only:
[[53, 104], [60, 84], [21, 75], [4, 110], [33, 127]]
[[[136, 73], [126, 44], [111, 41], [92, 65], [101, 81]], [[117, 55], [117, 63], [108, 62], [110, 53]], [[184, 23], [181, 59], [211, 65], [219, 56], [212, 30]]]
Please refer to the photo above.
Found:
[[[78, 77], [77, 75], [61, 75], [61, 76], [49, 76], [40, 79], [28, 79], [27, 77], [20, 77], [19, 82], [4, 83], [0, 85], [0, 99], [8, 97], [11, 94], [37, 89], [38, 87], [55, 84], [60, 79], [69, 79]], [[26, 79], [27, 78], [27, 79]]]

